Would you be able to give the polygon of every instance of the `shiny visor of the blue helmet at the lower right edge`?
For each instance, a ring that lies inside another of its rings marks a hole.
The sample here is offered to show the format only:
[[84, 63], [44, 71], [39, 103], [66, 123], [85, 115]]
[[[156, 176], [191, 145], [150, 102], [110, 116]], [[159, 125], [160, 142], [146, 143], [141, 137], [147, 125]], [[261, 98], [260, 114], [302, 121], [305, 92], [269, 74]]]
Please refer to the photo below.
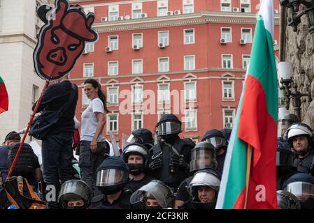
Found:
[[314, 198], [314, 185], [306, 182], [289, 183], [285, 188], [288, 192], [294, 194], [299, 201]]

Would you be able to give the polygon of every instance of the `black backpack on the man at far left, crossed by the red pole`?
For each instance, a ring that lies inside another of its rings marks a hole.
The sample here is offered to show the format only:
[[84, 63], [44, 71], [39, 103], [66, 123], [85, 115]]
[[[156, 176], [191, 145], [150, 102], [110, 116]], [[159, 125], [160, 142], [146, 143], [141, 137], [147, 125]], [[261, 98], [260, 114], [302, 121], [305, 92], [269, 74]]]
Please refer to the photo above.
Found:
[[[10, 169], [20, 143], [13, 144], [8, 152], [8, 160], [6, 162], [8, 169]], [[24, 176], [27, 177], [34, 173], [35, 170], [35, 154], [29, 144], [24, 143], [20, 151], [20, 155], [17, 157], [17, 162], [12, 172], [12, 176]]]

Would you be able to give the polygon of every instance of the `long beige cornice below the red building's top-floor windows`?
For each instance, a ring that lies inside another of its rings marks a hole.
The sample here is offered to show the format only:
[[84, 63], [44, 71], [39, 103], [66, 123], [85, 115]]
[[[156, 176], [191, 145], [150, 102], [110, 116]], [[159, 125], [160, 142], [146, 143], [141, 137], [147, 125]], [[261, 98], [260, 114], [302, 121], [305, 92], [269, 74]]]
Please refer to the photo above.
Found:
[[[279, 24], [279, 16], [275, 15], [275, 24]], [[163, 17], [148, 17], [137, 20], [122, 20], [111, 22], [95, 22], [93, 27], [99, 33], [113, 31], [128, 31], [134, 29], [155, 29], [167, 26], [185, 26], [190, 24], [227, 23], [255, 24], [255, 13], [228, 13], [217, 11], [201, 11], [199, 13], [170, 15]]]

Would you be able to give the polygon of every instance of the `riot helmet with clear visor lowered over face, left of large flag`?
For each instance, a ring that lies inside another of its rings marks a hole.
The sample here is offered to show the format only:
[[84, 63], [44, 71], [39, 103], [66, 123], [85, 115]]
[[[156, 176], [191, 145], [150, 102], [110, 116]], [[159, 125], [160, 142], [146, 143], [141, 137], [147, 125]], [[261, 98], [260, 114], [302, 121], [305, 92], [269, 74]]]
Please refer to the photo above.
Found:
[[190, 173], [206, 167], [217, 168], [216, 150], [208, 141], [201, 141], [192, 148]]

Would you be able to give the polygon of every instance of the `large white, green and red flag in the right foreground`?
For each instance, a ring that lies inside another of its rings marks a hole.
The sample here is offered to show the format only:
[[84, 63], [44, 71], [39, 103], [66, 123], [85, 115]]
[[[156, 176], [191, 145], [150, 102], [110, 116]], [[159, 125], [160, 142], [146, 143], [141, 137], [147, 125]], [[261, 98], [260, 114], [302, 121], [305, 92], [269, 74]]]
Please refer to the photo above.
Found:
[[278, 208], [278, 90], [273, 24], [273, 0], [263, 0], [216, 208]]

